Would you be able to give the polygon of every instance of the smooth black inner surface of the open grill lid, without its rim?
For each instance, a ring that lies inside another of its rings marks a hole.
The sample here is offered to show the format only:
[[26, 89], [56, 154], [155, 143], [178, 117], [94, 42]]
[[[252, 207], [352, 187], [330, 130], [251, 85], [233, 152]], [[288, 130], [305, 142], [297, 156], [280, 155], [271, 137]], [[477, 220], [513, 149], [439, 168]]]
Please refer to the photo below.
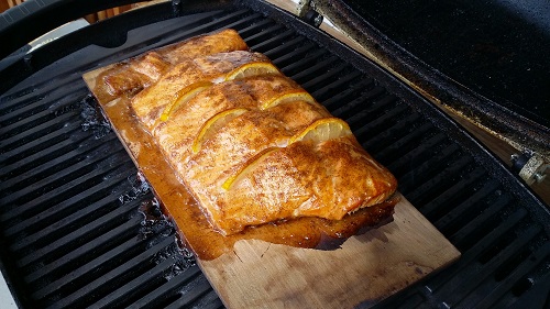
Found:
[[452, 79], [550, 128], [548, 1], [342, 2]]

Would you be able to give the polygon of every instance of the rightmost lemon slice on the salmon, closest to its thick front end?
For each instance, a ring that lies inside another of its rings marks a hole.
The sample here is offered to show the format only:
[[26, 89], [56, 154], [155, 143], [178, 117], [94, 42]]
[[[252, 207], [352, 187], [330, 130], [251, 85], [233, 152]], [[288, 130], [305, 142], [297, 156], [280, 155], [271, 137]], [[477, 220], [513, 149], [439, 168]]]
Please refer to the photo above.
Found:
[[339, 118], [324, 118], [315, 121], [308, 128], [304, 129], [304, 131], [290, 137], [288, 144], [299, 141], [322, 143], [351, 134], [351, 129], [345, 121]]

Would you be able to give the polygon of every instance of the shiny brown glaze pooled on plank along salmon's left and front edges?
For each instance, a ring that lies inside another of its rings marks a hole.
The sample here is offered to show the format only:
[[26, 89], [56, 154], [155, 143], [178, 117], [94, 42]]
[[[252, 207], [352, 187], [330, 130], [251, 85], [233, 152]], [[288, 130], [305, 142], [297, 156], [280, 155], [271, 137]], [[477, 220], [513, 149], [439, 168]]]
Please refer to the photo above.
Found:
[[[94, 92], [101, 92], [99, 82]], [[213, 260], [231, 252], [240, 240], [263, 240], [296, 247], [334, 249], [346, 238], [391, 219], [397, 199], [361, 209], [342, 220], [300, 218], [248, 228], [243, 232], [223, 236], [212, 229], [195, 198], [176, 177], [164, 159], [154, 139], [143, 129], [133, 114], [128, 97], [101, 102], [107, 118], [131, 157], [154, 188], [163, 210], [176, 222], [180, 236], [201, 260]]]

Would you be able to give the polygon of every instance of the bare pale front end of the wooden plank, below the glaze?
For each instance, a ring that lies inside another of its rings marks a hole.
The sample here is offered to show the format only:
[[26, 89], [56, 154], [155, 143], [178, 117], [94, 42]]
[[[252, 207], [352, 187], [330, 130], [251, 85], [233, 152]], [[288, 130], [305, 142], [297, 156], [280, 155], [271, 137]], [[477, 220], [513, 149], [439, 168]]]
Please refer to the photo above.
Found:
[[319, 251], [239, 241], [199, 265], [229, 308], [367, 308], [460, 253], [406, 199], [394, 221]]

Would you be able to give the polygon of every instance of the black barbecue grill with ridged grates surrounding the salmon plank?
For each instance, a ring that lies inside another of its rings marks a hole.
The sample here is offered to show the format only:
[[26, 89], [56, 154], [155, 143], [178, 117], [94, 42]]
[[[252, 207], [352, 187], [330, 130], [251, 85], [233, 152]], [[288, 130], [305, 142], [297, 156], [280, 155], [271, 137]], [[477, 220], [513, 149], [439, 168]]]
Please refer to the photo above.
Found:
[[[91, 24], [30, 53], [15, 51], [46, 31], [29, 24], [50, 30], [128, 2], [29, 1], [0, 20], [7, 42], [0, 54], [0, 262], [21, 308], [223, 307], [81, 75], [226, 27], [346, 120], [396, 175], [399, 191], [461, 251], [458, 262], [377, 307], [550, 306], [548, 206], [422, 96], [433, 92], [419, 91], [435, 84], [411, 87], [393, 74], [403, 73], [395, 66], [403, 57], [392, 52], [392, 41], [363, 37], [389, 53], [392, 65], [384, 66], [318, 29], [319, 12], [333, 13], [323, 3], [301, 7], [297, 16], [262, 1], [175, 0]], [[46, 22], [52, 14], [59, 20]], [[364, 20], [349, 12], [340, 18], [339, 24], [348, 20], [366, 33], [369, 24], [359, 24]], [[350, 36], [359, 40], [358, 33]], [[438, 82], [436, 95], [455, 90]], [[503, 110], [476, 102], [468, 101], [473, 113]], [[510, 123], [529, 129], [529, 145], [543, 150], [544, 120], [531, 120]]]

